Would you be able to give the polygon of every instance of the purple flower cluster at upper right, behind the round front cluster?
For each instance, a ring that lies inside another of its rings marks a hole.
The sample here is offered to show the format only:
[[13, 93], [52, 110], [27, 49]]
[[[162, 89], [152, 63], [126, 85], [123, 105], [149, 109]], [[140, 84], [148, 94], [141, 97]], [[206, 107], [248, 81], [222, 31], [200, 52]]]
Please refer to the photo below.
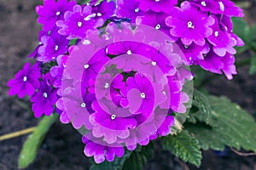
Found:
[[[236, 74], [235, 46], [242, 40], [232, 32], [231, 17], [242, 10], [230, 0], [120, 0], [117, 14], [136, 24], [165, 32], [183, 50], [186, 65], [201, 65], [228, 79]], [[175, 6], [177, 5], [177, 6]], [[175, 7], [174, 7], [175, 6]]]

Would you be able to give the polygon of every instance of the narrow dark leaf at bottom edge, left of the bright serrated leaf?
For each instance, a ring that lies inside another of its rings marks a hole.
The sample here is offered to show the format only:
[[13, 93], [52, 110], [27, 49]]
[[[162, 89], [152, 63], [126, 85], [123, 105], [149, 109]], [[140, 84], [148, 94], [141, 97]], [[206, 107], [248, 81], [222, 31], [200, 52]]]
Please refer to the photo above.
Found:
[[141, 170], [144, 164], [154, 155], [154, 145], [149, 143], [147, 146], [138, 147], [131, 153], [129, 159], [125, 161], [123, 170]]

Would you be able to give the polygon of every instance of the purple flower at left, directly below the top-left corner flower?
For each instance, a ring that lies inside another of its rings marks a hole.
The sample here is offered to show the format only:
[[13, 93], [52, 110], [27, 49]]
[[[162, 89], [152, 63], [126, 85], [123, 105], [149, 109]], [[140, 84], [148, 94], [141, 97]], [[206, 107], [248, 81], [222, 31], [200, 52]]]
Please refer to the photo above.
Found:
[[51, 31], [49, 36], [41, 37], [42, 46], [38, 48], [38, 61], [49, 62], [59, 55], [65, 54], [68, 48], [66, 37], [58, 34], [57, 30]]

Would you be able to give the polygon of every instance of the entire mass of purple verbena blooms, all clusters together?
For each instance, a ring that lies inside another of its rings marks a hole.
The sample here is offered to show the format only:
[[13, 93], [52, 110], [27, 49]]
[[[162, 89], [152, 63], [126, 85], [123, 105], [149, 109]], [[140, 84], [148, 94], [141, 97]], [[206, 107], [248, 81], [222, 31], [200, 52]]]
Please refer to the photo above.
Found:
[[30, 96], [36, 117], [71, 122], [97, 163], [170, 134], [189, 101], [185, 66], [231, 79], [243, 45], [231, 21], [242, 10], [230, 0], [44, 0], [36, 12], [34, 64], [8, 82], [9, 95]]

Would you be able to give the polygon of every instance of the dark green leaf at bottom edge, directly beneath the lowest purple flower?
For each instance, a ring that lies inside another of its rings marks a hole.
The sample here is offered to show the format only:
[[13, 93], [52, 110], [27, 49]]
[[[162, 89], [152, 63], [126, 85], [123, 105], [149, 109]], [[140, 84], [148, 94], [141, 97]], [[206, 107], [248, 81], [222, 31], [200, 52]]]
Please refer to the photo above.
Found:
[[90, 170], [121, 170], [125, 161], [131, 156], [131, 151], [125, 150], [125, 155], [122, 157], [115, 157], [113, 161], [103, 161], [100, 164], [96, 164], [92, 161]]

